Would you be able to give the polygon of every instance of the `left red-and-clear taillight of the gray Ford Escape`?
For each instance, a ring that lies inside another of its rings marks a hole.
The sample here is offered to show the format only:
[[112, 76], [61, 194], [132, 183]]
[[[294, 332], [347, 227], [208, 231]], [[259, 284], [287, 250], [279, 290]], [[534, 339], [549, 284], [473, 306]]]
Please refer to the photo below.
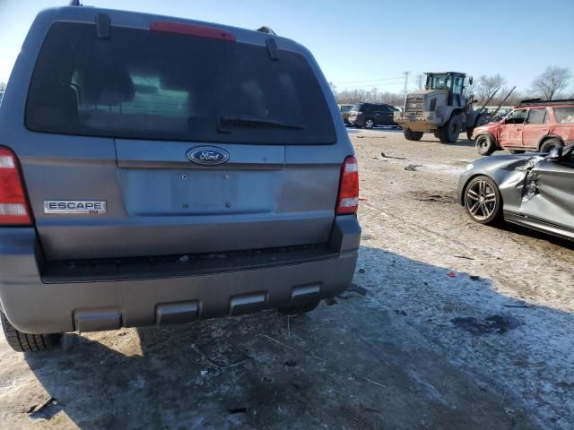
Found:
[[31, 223], [18, 159], [12, 150], [0, 148], [0, 226]]

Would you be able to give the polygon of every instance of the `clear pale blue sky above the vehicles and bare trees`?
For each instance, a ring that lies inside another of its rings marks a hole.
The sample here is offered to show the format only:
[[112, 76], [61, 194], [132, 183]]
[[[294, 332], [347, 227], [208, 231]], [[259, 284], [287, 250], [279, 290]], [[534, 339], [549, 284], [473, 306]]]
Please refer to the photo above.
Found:
[[[455, 70], [474, 76], [501, 73], [509, 85], [526, 90], [547, 65], [570, 67], [574, 73], [574, 0], [83, 3], [251, 29], [269, 25], [309, 47], [339, 89], [378, 86], [381, 91], [398, 91], [404, 71], [411, 72], [412, 88], [417, 73]], [[64, 4], [67, 0], [0, 0], [0, 81], [8, 80], [36, 13]]]

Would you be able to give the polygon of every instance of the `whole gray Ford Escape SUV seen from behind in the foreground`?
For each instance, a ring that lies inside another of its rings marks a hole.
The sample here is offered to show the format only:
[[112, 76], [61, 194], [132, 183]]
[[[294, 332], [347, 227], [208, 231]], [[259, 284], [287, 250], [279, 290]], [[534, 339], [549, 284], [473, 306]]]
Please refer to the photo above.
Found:
[[346, 288], [357, 161], [309, 51], [264, 32], [39, 13], [0, 107], [8, 343], [280, 309]]

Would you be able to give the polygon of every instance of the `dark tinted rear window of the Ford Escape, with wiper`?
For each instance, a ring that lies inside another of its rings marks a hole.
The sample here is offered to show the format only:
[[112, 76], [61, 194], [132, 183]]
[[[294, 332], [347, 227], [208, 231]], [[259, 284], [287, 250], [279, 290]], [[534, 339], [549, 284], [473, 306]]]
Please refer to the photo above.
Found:
[[166, 32], [57, 22], [33, 73], [26, 125], [126, 139], [327, 144], [335, 128], [300, 54]]

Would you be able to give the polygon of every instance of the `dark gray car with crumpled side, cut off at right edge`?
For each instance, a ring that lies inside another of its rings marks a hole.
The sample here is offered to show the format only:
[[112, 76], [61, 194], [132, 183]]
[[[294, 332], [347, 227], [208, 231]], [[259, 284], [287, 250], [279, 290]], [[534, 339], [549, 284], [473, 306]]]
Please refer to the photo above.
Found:
[[505, 219], [574, 240], [574, 143], [477, 159], [460, 176], [458, 202], [482, 224]]

